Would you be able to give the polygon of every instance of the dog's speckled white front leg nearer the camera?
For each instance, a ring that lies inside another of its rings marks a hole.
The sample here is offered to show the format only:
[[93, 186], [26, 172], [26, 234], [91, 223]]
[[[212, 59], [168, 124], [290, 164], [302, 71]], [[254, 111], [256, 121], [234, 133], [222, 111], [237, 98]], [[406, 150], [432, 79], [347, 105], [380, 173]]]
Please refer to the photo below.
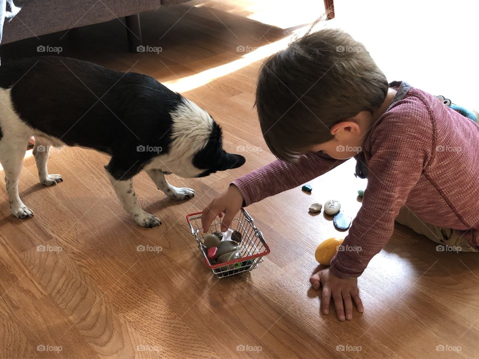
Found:
[[120, 198], [121, 204], [123, 204], [123, 208], [125, 208], [138, 225], [145, 228], [152, 228], [161, 224], [160, 218], [141, 209], [135, 190], [133, 189], [133, 179], [117, 180], [109, 173], [108, 177], [110, 178], [113, 188], [115, 188], [118, 198]]

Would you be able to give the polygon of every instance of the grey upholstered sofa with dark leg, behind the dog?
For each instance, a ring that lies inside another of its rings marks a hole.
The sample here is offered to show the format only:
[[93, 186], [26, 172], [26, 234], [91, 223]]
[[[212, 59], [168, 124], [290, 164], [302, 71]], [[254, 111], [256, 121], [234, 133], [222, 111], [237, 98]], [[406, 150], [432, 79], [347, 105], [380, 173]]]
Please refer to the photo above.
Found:
[[125, 17], [130, 51], [141, 45], [139, 13], [187, 0], [27, 0], [5, 21], [5, 44], [47, 33]]

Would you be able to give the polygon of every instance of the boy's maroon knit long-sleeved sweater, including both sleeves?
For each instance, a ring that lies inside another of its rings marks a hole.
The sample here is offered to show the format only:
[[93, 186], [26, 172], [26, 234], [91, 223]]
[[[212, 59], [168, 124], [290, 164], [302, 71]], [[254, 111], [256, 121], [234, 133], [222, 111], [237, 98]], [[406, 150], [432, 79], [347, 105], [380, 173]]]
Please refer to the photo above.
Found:
[[[331, 271], [358, 277], [394, 230], [407, 205], [424, 222], [464, 231], [479, 249], [479, 126], [433, 95], [394, 84], [396, 97], [369, 131], [363, 146], [368, 185], [362, 207]], [[299, 163], [281, 160], [235, 180], [245, 205], [323, 175], [344, 161], [308, 153]]]

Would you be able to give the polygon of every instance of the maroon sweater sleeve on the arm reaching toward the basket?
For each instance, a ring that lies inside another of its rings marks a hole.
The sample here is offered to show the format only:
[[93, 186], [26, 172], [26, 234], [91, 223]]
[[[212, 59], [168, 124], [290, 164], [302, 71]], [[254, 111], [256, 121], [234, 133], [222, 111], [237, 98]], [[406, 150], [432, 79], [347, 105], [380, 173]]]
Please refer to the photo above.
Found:
[[232, 184], [243, 195], [243, 204], [249, 205], [321, 176], [343, 162], [345, 160], [335, 160], [321, 152], [309, 152], [301, 156], [297, 163], [276, 160], [236, 179]]

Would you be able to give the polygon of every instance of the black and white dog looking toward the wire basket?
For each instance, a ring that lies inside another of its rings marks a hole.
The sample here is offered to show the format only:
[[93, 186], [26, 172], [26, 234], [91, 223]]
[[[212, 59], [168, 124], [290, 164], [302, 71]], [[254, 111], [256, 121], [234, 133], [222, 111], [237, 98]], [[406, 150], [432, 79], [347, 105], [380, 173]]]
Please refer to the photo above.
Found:
[[65, 57], [38, 57], [0, 66], [0, 163], [10, 210], [33, 215], [18, 196], [18, 178], [30, 136], [40, 182], [48, 174], [49, 146], [81, 146], [111, 156], [105, 169], [125, 210], [142, 227], [161, 224], [138, 204], [133, 177], [144, 170], [165, 194], [192, 197], [165, 175], [204, 177], [240, 167], [244, 157], [225, 152], [213, 118], [154, 78]]

